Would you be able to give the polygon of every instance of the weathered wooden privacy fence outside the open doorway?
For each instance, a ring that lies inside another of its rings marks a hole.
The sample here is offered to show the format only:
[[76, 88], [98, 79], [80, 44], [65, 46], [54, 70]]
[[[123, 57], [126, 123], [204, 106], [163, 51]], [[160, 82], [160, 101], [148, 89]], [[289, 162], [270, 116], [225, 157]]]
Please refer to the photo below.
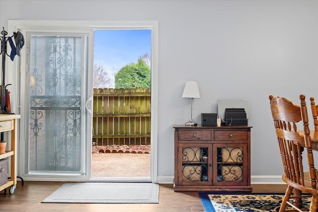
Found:
[[95, 144], [150, 144], [150, 88], [94, 88], [92, 111]]

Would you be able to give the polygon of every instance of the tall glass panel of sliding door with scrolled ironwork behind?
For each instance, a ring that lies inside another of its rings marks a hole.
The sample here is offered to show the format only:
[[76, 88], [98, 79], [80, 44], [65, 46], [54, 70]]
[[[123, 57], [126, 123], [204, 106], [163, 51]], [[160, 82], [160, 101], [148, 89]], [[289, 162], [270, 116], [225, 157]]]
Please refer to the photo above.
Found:
[[84, 173], [85, 39], [30, 37], [28, 173]]

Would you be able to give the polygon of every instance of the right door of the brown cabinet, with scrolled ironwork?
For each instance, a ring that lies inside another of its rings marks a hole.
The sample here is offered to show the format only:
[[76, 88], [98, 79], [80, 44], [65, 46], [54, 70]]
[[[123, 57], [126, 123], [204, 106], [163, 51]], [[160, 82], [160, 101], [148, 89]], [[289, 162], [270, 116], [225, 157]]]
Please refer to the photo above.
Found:
[[245, 185], [247, 171], [246, 143], [214, 144], [214, 184]]

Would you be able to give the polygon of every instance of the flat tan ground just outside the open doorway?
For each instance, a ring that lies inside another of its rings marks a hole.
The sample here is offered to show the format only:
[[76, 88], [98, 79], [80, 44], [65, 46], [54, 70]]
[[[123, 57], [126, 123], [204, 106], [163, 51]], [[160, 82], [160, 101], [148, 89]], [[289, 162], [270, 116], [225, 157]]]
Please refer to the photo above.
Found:
[[150, 154], [93, 153], [91, 177], [150, 177]]

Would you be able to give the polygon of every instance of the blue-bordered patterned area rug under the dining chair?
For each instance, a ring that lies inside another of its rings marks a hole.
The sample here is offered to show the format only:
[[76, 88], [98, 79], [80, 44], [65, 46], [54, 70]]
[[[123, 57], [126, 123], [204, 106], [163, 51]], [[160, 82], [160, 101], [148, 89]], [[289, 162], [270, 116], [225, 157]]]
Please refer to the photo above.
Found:
[[[278, 212], [284, 194], [199, 193], [199, 197], [206, 212]], [[309, 205], [310, 199], [303, 204]]]

